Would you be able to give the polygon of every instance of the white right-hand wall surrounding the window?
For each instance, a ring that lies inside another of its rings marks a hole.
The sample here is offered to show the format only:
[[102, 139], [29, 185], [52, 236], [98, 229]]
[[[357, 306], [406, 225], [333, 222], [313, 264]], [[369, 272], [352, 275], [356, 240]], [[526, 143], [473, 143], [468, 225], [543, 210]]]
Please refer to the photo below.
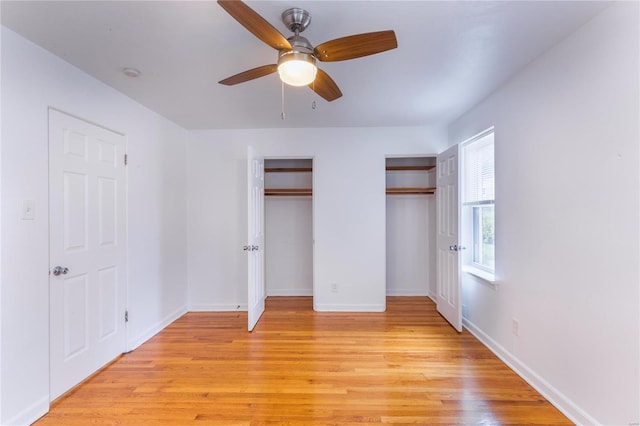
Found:
[[640, 421], [638, 13], [606, 9], [449, 128], [495, 125], [499, 286], [465, 277], [465, 324], [581, 424]]

